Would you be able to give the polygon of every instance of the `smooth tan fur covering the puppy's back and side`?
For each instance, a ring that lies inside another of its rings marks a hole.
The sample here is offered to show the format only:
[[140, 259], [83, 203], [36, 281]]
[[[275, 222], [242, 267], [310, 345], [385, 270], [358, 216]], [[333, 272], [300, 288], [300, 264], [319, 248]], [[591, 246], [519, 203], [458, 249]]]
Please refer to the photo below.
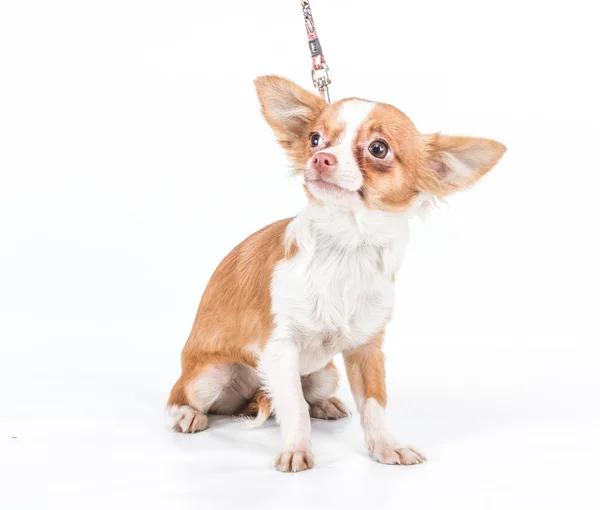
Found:
[[[269, 286], [275, 265], [286, 257], [284, 233], [291, 220], [252, 234], [215, 270], [183, 348], [182, 375], [168, 405], [193, 405], [189, 386], [208, 367], [222, 363], [256, 367], [256, 350], [262, 350], [273, 329]], [[297, 249], [292, 244], [287, 256]]]

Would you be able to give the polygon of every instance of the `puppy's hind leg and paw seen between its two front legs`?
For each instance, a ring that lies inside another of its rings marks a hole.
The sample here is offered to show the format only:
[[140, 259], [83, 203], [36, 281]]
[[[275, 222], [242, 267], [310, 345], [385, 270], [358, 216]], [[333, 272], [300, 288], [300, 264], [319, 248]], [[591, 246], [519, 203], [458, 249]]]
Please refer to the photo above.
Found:
[[349, 416], [346, 406], [335, 397], [339, 373], [333, 361], [321, 370], [302, 376], [302, 390], [313, 418], [337, 420]]

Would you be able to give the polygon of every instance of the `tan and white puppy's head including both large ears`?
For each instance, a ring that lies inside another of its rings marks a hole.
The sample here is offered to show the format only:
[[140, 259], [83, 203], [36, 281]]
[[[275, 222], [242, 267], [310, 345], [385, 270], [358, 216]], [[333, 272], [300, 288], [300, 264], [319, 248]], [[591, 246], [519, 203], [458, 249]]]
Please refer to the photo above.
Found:
[[388, 104], [356, 98], [327, 104], [277, 76], [255, 85], [313, 201], [400, 212], [419, 195], [442, 198], [470, 186], [506, 150], [485, 138], [421, 134]]

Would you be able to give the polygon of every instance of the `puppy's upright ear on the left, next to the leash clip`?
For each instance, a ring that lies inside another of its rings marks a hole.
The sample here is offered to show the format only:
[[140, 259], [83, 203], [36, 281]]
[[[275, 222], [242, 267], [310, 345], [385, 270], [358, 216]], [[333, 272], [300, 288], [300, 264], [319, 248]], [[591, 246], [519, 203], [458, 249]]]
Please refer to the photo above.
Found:
[[294, 152], [299, 142], [308, 139], [310, 126], [325, 108], [325, 101], [279, 76], [260, 76], [254, 85], [262, 113], [277, 140], [284, 149]]

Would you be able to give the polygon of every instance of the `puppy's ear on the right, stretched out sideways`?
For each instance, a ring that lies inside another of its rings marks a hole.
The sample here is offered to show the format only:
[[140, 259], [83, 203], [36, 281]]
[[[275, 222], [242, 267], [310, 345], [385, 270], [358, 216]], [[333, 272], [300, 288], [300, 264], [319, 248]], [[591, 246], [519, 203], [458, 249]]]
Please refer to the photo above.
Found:
[[444, 197], [479, 180], [498, 163], [506, 147], [487, 138], [435, 134], [425, 136], [425, 150], [417, 186]]

